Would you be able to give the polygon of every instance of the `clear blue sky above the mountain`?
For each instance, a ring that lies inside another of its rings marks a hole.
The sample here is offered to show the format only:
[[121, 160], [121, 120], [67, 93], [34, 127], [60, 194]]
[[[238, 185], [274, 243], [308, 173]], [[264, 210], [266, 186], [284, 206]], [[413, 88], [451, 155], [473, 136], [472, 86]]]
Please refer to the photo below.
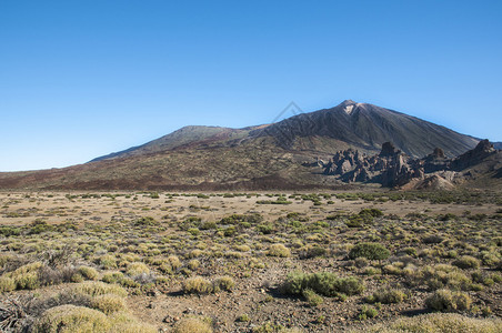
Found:
[[502, 1], [0, 1], [0, 170], [370, 102], [502, 141]]

